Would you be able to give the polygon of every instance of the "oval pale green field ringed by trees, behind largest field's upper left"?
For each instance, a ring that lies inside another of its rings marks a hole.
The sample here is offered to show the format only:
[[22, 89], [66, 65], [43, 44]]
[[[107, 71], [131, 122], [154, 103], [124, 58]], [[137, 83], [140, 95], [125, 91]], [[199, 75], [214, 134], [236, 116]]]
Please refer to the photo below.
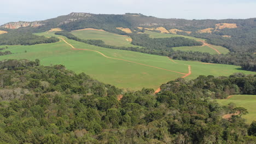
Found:
[[107, 45], [113, 46], [125, 46], [125, 47], [138, 47], [132, 45], [127, 35], [120, 35], [109, 32], [95, 31], [95, 30], [84, 30], [84, 31], [73, 31], [71, 32], [80, 39], [99, 39], [103, 40]]

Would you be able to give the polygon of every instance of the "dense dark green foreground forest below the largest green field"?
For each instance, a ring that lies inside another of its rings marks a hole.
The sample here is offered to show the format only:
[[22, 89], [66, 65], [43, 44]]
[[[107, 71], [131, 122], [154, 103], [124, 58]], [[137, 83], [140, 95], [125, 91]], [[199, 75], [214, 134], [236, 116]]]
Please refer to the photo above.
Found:
[[[63, 65], [0, 62], [0, 143], [253, 143], [246, 109], [212, 98], [255, 94], [255, 75], [178, 79], [162, 91], [119, 88]], [[240, 111], [230, 120], [225, 113]]]

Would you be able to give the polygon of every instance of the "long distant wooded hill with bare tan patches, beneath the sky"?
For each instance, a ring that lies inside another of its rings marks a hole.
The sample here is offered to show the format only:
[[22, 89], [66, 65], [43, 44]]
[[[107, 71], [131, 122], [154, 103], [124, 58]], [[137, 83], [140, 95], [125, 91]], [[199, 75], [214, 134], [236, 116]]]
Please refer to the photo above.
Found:
[[161, 19], [133, 13], [123, 15], [71, 13], [43, 21], [9, 22], [0, 26], [0, 30], [44, 32], [56, 27], [66, 31], [97, 28], [117, 34], [138, 33], [147, 29], [207, 39], [208, 43], [224, 46], [231, 52], [256, 52], [256, 18], [185, 20]]

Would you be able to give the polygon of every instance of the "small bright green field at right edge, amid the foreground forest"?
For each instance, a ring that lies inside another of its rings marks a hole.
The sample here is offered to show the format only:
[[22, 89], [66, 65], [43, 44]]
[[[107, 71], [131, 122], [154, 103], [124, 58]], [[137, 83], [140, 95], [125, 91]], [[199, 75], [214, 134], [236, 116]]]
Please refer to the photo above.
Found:
[[230, 99], [218, 99], [217, 101], [220, 105], [235, 103], [236, 106], [244, 107], [249, 112], [242, 116], [247, 119], [247, 123], [256, 121], [256, 95], [234, 95]]

